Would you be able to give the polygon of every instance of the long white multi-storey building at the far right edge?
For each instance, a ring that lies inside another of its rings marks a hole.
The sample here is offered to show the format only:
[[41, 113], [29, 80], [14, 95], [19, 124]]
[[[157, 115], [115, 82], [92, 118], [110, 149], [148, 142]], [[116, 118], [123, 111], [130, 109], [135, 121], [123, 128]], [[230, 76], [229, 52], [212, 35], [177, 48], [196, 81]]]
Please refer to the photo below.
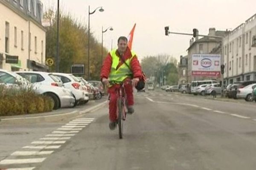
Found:
[[224, 38], [224, 84], [256, 80], [256, 14]]

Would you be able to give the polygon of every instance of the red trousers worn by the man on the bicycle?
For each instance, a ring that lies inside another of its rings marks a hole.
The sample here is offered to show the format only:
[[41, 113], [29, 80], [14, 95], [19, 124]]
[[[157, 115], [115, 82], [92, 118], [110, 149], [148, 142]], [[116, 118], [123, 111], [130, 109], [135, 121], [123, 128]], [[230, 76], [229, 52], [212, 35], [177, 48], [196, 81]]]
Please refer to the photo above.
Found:
[[[119, 90], [119, 87], [120, 85], [113, 85], [111, 88], [108, 89], [108, 93], [110, 94], [109, 119], [111, 122], [115, 122], [117, 119], [117, 92]], [[134, 105], [133, 87], [131, 83], [125, 82], [125, 93], [128, 106]]]

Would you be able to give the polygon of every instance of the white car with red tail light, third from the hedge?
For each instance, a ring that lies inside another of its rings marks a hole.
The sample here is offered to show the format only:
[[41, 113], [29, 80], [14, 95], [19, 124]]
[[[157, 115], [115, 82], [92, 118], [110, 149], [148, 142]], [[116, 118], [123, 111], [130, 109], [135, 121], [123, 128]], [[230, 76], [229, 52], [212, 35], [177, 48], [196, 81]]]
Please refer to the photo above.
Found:
[[52, 73], [53, 75], [57, 76], [61, 79], [65, 88], [70, 89], [72, 94], [74, 95], [77, 105], [79, 102], [87, 103], [89, 101], [89, 97], [86, 95], [86, 92], [83, 89], [80, 80], [77, 79], [73, 74], [66, 74], [66, 73]]

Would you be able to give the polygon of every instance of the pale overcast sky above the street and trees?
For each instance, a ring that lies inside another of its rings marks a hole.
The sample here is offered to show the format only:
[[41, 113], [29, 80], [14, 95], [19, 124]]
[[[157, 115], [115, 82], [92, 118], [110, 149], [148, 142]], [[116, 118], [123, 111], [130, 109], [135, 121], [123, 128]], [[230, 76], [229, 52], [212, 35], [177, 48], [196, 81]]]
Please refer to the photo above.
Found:
[[[57, 0], [41, 0], [44, 7], [56, 7]], [[208, 34], [210, 27], [216, 30], [234, 29], [256, 13], [256, 0], [60, 0], [61, 9], [88, 24], [88, 6], [91, 11], [102, 6], [105, 11], [90, 15], [91, 32], [101, 42], [102, 26], [113, 26], [104, 34], [104, 46], [116, 47], [119, 36], [128, 36], [137, 23], [133, 50], [142, 59], [147, 55], [186, 55], [190, 36], [164, 35], [164, 27], [170, 31]]]

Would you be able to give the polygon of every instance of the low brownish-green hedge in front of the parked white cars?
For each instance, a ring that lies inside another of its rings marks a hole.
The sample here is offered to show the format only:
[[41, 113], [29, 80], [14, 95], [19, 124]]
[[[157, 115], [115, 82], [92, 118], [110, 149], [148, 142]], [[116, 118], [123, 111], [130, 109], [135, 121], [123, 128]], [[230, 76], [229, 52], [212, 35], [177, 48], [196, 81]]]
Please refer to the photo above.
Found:
[[43, 113], [52, 111], [52, 100], [36, 94], [32, 88], [0, 85], [0, 116]]

